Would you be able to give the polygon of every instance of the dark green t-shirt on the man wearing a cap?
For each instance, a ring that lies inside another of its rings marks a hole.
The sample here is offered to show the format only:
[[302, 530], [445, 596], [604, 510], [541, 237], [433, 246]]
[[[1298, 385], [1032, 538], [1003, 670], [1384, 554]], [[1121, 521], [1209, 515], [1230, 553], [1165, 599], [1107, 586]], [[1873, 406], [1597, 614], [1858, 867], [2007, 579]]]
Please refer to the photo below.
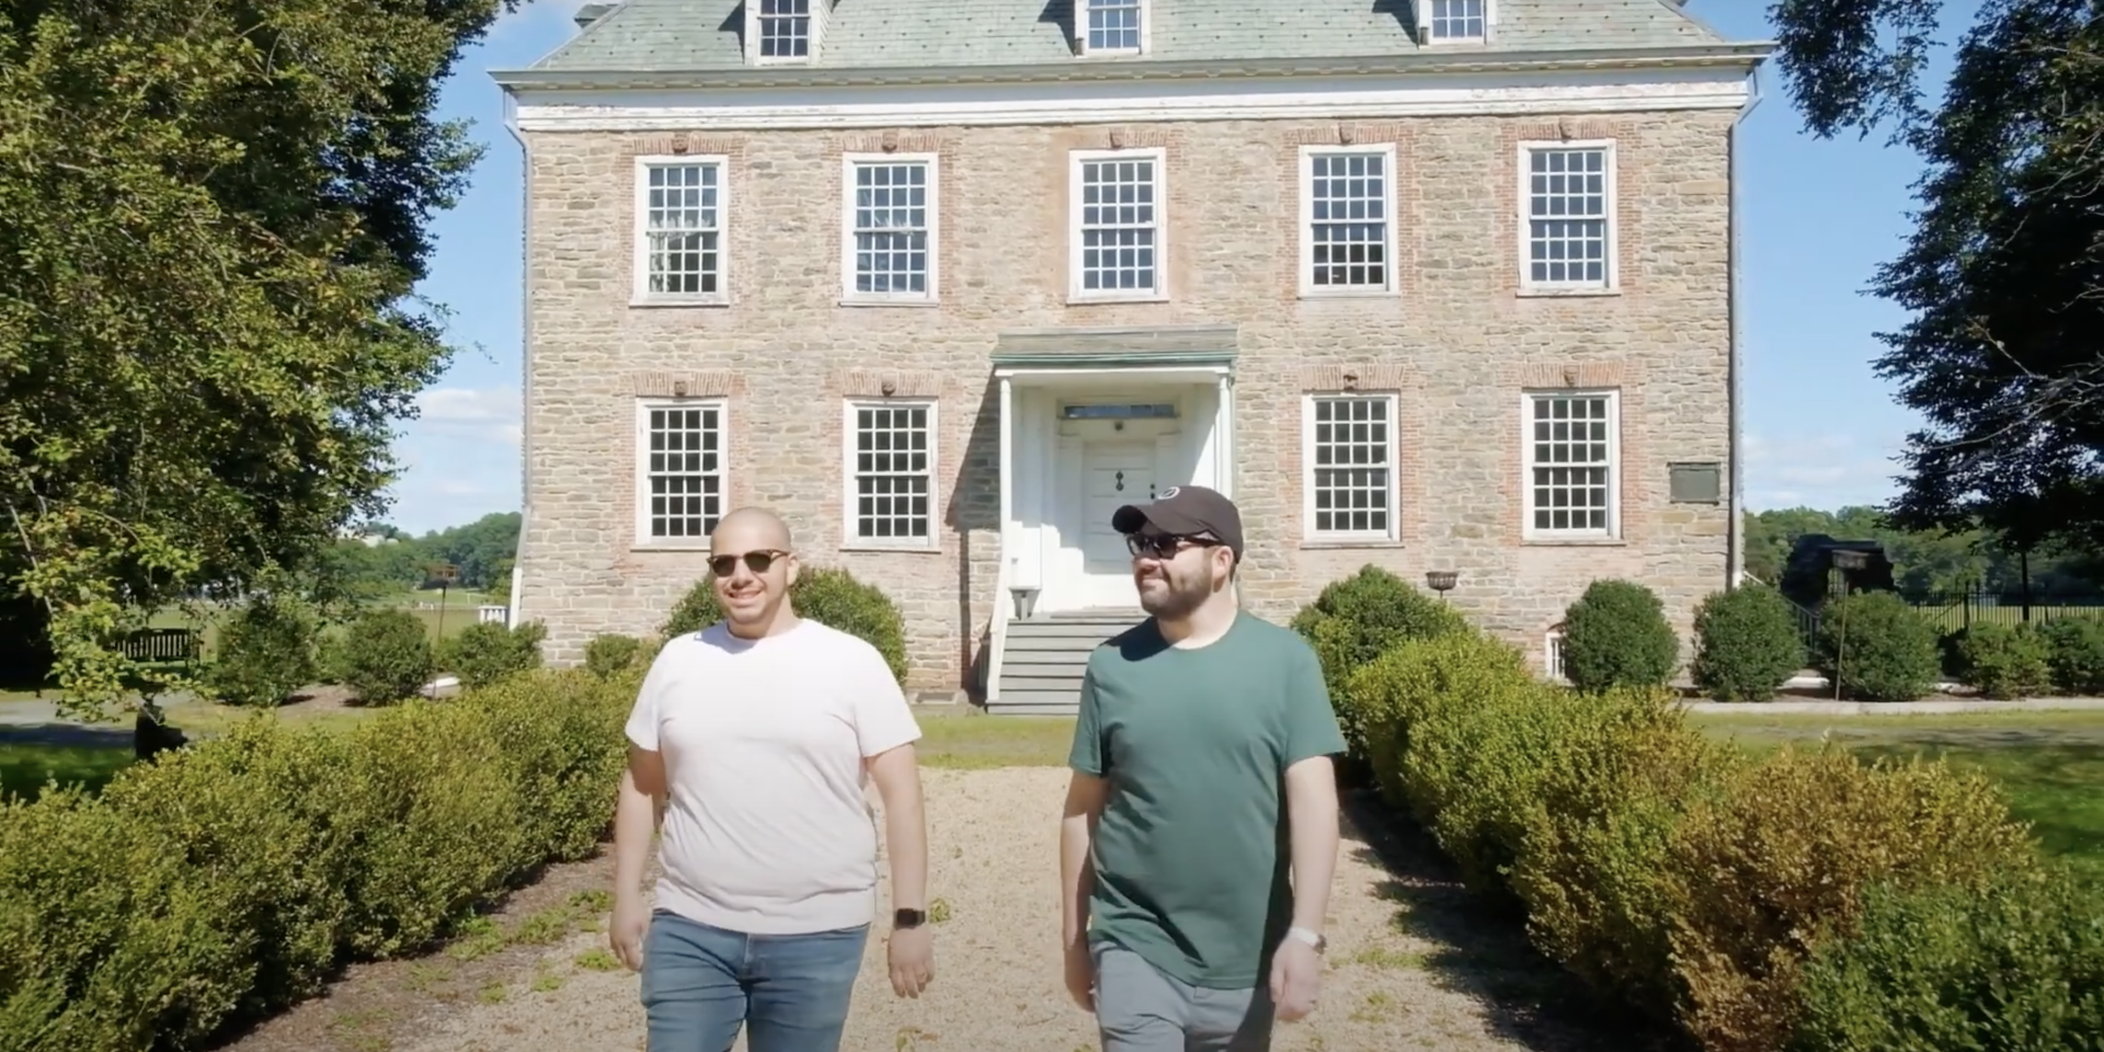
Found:
[[1109, 783], [1090, 938], [1195, 987], [1262, 983], [1292, 924], [1286, 768], [1340, 751], [1315, 652], [1260, 616], [1201, 648], [1153, 619], [1098, 646], [1067, 760]]

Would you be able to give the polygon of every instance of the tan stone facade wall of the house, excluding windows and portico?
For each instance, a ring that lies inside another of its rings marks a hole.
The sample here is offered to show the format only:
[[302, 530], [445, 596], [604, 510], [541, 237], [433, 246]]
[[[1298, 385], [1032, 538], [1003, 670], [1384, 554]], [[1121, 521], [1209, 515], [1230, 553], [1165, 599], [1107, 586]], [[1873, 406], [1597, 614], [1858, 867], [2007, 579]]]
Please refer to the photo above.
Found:
[[[650, 633], [703, 553], [635, 543], [638, 396], [728, 398], [730, 505], [781, 511], [806, 562], [903, 608], [913, 686], [974, 682], [995, 602], [995, 335], [1050, 326], [1239, 326], [1235, 490], [1243, 602], [1288, 619], [1363, 564], [1422, 581], [1523, 644], [1597, 576], [1656, 589], [1681, 631], [1727, 585], [1727, 503], [1671, 503], [1668, 463], [1729, 478], [1732, 112], [1403, 122], [1203, 122], [724, 135], [528, 133], [528, 520], [520, 612], [553, 663], [604, 631]], [[1618, 288], [1519, 290], [1519, 149], [1610, 139]], [[1302, 299], [1302, 143], [1395, 143], [1401, 295]], [[1069, 305], [1071, 149], [1166, 149], [1168, 301]], [[936, 307], [842, 305], [842, 151], [940, 158]], [[631, 307], [638, 156], [728, 158], [728, 305]], [[1349, 377], [1349, 379], [1347, 379]], [[1304, 545], [1302, 393], [1399, 400], [1391, 545]], [[1523, 543], [1521, 391], [1620, 391], [1620, 537]], [[940, 398], [938, 545], [842, 549], [842, 398]]]

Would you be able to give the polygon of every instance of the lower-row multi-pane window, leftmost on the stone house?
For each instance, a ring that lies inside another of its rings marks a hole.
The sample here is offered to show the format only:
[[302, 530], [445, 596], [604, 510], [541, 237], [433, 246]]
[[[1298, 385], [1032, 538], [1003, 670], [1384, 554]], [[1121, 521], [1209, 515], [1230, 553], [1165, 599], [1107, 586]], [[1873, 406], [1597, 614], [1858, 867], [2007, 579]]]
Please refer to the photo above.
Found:
[[724, 518], [724, 404], [640, 406], [640, 539], [707, 543]]

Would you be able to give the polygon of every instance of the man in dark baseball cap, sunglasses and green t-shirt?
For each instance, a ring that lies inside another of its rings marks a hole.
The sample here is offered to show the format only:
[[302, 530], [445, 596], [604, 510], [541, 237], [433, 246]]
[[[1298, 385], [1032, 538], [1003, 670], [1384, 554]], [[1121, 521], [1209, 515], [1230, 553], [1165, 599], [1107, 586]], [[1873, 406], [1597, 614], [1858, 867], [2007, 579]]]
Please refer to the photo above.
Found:
[[1105, 1052], [1262, 1052], [1315, 1008], [1344, 751], [1300, 635], [1235, 602], [1241, 513], [1119, 507], [1151, 616], [1081, 680], [1060, 823], [1067, 993]]

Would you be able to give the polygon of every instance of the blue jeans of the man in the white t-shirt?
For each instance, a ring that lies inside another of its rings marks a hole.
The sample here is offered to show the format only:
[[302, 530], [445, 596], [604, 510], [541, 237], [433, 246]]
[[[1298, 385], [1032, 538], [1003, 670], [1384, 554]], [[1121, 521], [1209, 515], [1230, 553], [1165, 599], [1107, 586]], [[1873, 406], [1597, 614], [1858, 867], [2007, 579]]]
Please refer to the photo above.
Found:
[[656, 911], [644, 936], [648, 1052], [839, 1052], [869, 926], [743, 934]]

